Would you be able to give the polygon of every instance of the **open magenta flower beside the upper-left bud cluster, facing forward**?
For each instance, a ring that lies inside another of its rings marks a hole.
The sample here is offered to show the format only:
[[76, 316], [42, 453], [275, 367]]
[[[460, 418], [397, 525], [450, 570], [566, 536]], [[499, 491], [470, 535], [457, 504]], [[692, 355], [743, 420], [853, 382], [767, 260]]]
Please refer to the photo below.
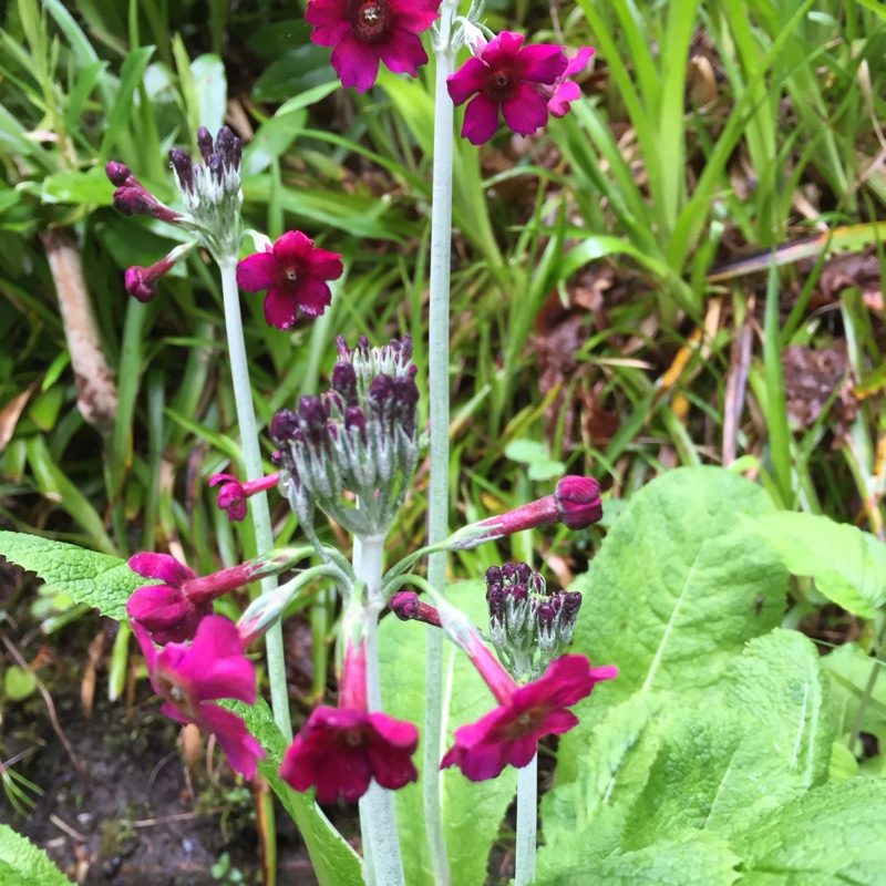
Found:
[[327, 280], [343, 274], [341, 256], [318, 249], [300, 230], [284, 234], [271, 249], [256, 253], [237, 266], [237, 284], [247, 292], [268, 290], [265, 319], [268, 326], [289, 329], [299, 310], [319, 317], [332, 301]]

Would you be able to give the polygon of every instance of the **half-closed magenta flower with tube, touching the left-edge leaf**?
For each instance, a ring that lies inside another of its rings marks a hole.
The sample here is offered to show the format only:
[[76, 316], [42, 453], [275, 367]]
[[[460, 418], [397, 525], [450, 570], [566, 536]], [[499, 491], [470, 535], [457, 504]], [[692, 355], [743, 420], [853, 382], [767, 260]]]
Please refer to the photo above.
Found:
[[255, 580], [250, 565], [234, 566], [198, 578], [168, 554], [136, 554], [130, 568], [142, 578], [158, 578], [161, 585], [144, 585], [133, 591], [126, 614], [159, 646], [181, 643], [194, 637], [200, 620], [213, 610], [213, 600]]

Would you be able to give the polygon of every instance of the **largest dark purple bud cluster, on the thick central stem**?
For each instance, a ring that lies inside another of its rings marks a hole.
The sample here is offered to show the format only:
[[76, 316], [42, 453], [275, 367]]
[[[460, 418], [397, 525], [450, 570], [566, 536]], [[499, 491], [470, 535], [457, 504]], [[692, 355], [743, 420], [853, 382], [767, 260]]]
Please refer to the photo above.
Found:
[[[419, 459], [412, 340], [373, 349], [361, 339], [349, 350], [340, 339], [338, 347], [331, 390], [274, 416], [281, 487], [302, 523], [317, 504], [354, 535], [384, 534]], [[360, 507], [346, 506], [342, 492]]]

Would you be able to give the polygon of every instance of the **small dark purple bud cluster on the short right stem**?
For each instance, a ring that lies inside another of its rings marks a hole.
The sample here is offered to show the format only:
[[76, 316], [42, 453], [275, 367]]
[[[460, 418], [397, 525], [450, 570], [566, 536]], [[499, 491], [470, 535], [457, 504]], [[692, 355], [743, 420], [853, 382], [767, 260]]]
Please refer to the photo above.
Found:
[[486, 570], [490, 640], [517, 680], [536, 679], [571, 642], [581, 607], [578, 591], [547, 594], [545, 579], [528, 564], [506, 563]]

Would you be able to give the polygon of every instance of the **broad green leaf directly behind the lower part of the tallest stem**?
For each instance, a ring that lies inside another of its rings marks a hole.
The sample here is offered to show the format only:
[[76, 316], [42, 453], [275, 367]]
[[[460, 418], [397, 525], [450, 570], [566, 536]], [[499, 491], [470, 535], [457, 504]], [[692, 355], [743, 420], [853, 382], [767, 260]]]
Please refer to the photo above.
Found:
[[[485, 589], [482, 581], [465, 581], [451, 586], [449, 598], [477, 624], [483, 624]], [[426, 630], [424, 625], [393, 617], [383, 619], [379, 627], [384, 712], [416, 723], [422, 732]], [[445, 750], [452, 743], [453, 730], [491, 711], [495, 699], [468, 658], [449, 641], [444, 642]], [[419, 745], [414, 758], [419, 770], [422, 769], [422, 751]], [[515, 790], [516, 770], [509, 766], [497, 779], [476, 784], [465, 779], [459, 769], [443, 773], [443, 826], [453, 883], [471, 886], [485, 882], [490, 849]], [[434, 876], [424, 827], [421, 780], [396, 792], [396, 822], [406, 883], [432, 886]]]

